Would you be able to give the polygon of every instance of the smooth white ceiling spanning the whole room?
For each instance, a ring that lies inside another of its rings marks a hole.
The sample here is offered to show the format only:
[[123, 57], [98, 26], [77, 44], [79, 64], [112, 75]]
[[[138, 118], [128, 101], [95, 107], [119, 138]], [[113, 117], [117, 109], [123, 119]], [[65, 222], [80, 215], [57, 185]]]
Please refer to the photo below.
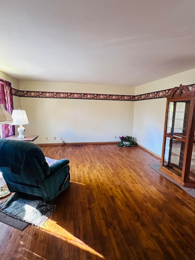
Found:
[[138, 86], [195, 68], [194, 0], [1, 0], [0, 70]]

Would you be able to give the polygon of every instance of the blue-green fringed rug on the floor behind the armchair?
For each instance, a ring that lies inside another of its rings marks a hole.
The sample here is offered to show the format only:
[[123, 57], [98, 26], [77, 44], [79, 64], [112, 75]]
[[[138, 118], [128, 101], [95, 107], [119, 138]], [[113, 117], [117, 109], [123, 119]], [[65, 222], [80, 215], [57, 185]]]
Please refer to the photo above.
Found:
[[23, 199], [17, 193], [0, 204], [0, 212], [37, 227], [44, 225], [55, 208], [41, 201]]

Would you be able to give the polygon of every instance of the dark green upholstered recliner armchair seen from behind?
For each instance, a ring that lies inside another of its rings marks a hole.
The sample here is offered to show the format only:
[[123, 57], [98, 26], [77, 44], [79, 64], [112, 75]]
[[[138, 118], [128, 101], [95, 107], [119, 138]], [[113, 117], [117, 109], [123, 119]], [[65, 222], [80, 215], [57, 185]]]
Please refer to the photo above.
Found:
[[69, 160], [48, 165], [34, 143], [0, 139], [0, 171], [11, 192], [24, 198], [51, 202], [69, 186]]

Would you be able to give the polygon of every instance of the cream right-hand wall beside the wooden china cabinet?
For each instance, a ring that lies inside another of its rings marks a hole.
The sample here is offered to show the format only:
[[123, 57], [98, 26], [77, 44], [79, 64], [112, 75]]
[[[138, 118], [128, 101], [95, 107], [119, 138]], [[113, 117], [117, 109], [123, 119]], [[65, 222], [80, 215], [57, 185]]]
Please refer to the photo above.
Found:
[[[136, 87], [136, 95], [195, 83], [195, 69]], [[165, 123], [166, 98], [136, 101], [133, 136], [137, 143], [161, 155]]]

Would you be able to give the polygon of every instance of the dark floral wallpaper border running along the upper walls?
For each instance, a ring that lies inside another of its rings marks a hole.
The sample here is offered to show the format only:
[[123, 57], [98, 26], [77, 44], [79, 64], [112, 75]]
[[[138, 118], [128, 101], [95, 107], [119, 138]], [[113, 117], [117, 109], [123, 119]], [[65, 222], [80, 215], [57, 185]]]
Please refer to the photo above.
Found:
[[[195, 84], [187, 85], [190, 90], [195, 89]], [[14, 96], [22, 98], [69, 98], [69, 99], [93, 99], [93, 100], [118, 100], [118, 101], [140, 101], [155, 98], [165, 98], [172, 88], [150, 92], [141, 95], [113, 95], [113, 94], [88, 94], [70, 92], [50, 92], [50, 91], [23, 91], [12, 88]]]

